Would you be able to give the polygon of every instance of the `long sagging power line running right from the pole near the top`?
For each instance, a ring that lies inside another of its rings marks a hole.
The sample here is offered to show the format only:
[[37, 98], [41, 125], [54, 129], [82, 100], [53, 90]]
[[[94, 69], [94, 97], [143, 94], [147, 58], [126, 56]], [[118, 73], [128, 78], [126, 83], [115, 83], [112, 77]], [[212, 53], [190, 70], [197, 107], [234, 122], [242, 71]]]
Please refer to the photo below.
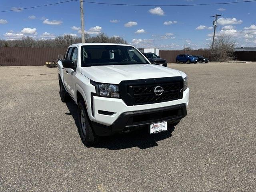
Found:
[[[80, 1], [80, 0], [75, 0], [75, 1]], [[144, 5], [138, 5], [138, 4], [100, 3], [100, 2], [91, 2], [91, 1], [83, 1], [83, 2], [94, 3], [94, 4], [103, 4], [103, 5], [178, 7], [178, 6], [200, 6], [200, 5], [221, 5], [221, 4], [246, 3], [246, 2], [256, 2], [256, 0], [224, 2], [224, 3], [207, 3], [207, 4], [182, 4], [182, 5], [145, 5], [145, 4]]]

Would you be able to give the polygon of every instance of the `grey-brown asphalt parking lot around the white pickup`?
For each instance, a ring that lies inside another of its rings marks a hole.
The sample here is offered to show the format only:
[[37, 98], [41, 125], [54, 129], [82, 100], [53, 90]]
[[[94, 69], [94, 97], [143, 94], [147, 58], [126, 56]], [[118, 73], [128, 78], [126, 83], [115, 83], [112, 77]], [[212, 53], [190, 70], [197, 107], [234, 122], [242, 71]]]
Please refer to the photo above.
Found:
[[188, 116], [91, 148], [56, 68], [0, 67], [0, 191], [255, 191], [256, 63], [168, 66], [188, 75]]

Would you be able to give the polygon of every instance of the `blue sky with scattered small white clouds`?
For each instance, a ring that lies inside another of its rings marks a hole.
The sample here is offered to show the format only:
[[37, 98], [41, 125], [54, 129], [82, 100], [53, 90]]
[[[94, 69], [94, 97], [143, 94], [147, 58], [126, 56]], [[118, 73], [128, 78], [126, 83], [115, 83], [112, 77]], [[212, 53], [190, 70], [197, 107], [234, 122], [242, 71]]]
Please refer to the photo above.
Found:
[[[1, 0], [1, 10], [26, 8], [62, 0]], [[94, 0], [96, 1], [96, 0]], [[124, 4], [205, 4], [236, 0], [97, 0]], [[213, 18], [218, 20], [217, 34], [226, 33], [238, 46], [256, 46], [256, 2], [188, 7], [113, 6], [84, 3], [86, 32], [122, 36], [140, 47], [182, 49], [206, 48], [211, 43]], [[0, 12], [0, 39], [22, 36], [54, 38], [58, 35], [80, 36], [80, 3], [67, 2], [22, 11]]]

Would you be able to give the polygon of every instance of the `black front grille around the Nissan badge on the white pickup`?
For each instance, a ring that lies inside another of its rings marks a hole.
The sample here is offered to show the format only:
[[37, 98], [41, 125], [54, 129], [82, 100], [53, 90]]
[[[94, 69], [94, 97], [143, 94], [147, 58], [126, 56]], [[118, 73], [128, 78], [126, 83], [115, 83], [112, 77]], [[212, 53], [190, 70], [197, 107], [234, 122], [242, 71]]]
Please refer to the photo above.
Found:
[[[160, 95], [154, 93], [157, 86], [161, 86], [164, 90]], [[120, 92], [122, 100], [128, 106], [178, 100], [183, 97], [183, 78], [124, 81], [120, 83]], [[124, 94], [122, 94], [123, 92]]]

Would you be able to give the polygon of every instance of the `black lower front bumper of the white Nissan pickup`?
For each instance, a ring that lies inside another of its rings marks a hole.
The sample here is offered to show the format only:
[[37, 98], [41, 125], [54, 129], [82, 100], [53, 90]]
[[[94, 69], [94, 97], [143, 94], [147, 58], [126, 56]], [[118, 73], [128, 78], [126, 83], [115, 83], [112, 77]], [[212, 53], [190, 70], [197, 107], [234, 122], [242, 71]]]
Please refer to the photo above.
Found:
[[148, 127], [154, 122], [167, 121], [168, 124], [179, 122], [187, 115], [186, 104], [174, 106], [124, 112], [110, 126], [91, 122], [94, 132], [99, 136], [108, 136], [115, 133], [130, 132], [139, 128]]

